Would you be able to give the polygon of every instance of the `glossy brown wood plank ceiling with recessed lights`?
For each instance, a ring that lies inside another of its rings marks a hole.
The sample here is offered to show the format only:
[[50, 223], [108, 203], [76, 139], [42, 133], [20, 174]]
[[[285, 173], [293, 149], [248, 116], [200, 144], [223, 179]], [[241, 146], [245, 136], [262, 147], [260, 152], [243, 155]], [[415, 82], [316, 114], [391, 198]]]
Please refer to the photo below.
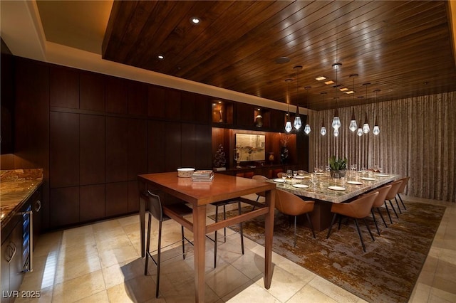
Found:
[[[336, 101], [346, 107], [455, 91], [447, 10], [433, 0], [115, 1], [102, 55], [279, 102], [287, 102], [291, 78], [291, 105], [324, 110]], [[342, 63], [337, 74], [334, 63]], [[351, 95], [338, 90], [353, 85]]]

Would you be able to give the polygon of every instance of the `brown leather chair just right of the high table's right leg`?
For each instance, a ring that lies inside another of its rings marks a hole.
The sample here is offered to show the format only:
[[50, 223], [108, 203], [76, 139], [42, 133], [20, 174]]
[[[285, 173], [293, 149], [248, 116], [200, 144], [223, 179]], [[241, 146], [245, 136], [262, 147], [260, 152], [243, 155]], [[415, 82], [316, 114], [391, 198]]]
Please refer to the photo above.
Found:
[[300, 215], [306, 214], [307, 220], [312, 230], [312, 235], [315, 237], [314, 226], [312, 225], [309, 213], [314, 211], [315, 201], [304, 201], [294, 193], [288, 191], [276, 190], [276, 203], [275, 207], [281, 213], [289, 216], [294, 216], [294, 247], [296, 247], [296, 218]]

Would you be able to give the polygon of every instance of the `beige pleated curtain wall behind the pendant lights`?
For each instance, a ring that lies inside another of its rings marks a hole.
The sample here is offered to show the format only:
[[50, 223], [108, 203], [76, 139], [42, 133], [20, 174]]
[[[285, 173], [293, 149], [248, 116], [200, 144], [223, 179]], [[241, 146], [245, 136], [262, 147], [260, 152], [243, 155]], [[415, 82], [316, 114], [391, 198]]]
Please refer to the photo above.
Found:
[[[358, 124], [366, 112], [371, 132], [358, 137], [348, 129], [352, 107], [338, 109], [338, 137], [331, 127], [334, 110], [311, 112], [309, 167], [326, 165], [331, 155], [346, 156], [348, 164], [410, 176], [406, 194], [456, 202], [456, 92], [353, 107]], [[374, 115], [380, 134], [372, 133]], [[328, 133], [321, 136], [324, 124]]]

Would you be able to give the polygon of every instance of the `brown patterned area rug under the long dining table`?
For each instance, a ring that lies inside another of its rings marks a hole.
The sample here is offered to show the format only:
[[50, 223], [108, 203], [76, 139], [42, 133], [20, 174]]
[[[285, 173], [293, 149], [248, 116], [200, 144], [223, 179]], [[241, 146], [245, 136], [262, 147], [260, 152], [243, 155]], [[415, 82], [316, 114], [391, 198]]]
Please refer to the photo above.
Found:
[[[353, 220], [342, 220], [340, 230], [334, 224], [329, 239], [328, 230], [316, 233], [314, 239], [311, 230], [304, 227], [305, 216], [298, 223], [294, 248], [293, 225], [289, 225], [288, 216], [276, 212], [273, 250], [368, 302], [408, 302], [445, 207], [407, 201], [405, 206], [407, 210], [399, 214], [399, 219], [393, 214], [393, 225], [388, 224], [384, 213], [388, 228], [376, 213], [380, 236], [372, 218], [366, 219], [374, 242], [366, 225], [358, 221], [366, 252]], [[264, 220], [255, 218], [244, 223], [244, 235], [264, 245]]]

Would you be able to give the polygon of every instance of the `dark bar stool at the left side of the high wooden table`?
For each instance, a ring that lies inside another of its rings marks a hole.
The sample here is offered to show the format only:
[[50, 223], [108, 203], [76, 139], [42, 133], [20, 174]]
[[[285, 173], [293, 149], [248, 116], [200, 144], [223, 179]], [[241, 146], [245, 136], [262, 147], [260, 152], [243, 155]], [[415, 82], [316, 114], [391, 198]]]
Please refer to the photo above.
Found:
[[[157, 285], [155, 288], [155, 297], [158, 297], [159, 289], [160, 289], [160, 265], [162, 262], [170, 260], [174, 257], [169, 257], [167, 260], [161, 260], [161, 252], [162, 252], [162, 223], [165, 220], [170, 219], [168, 216], [165, 215], [165, 211], [172, 211], [177, 213], [179, 216], [186, 216], [192, 213], [192, 208], [186, 206], [184, 203], [176, 203], [172, 205], [164, 206], [160, 200], [160, 196], [151, 193], [150, 191], [146, 191], [145, 193], [141, 194], [141, 198], [144, 198], [147, 201], [147, 214], [149, 216], [149, 220], [147, 223], [147, 240], [146, 240], [146, 252], [145, 252], [145, 267], [144, 267], [144, 275], [147, 275], [147, 266], [149, 265], [149, 258], [155, 263], [157, 267]], [[158, 243], [157, 243], [157, 250], [150, 252], [150, 231], [151, 231], [151, 222], [152, 217], [158, 220]], [[170, 247], [171, 245], [175, 245], [178, 242], [182, 241], [182, 257], [185, 259], [185, 241], [193, 245], [192, 241], [185, 237], [184, 234], [184, 226], [180, 226], [182, 239], [166, 245], [163, 248]], [[192, 230], [191, 230], [192, 231]], [[157, 252], [157, 259], [155, 260], [153, 252]]]

